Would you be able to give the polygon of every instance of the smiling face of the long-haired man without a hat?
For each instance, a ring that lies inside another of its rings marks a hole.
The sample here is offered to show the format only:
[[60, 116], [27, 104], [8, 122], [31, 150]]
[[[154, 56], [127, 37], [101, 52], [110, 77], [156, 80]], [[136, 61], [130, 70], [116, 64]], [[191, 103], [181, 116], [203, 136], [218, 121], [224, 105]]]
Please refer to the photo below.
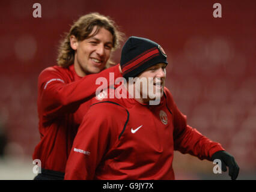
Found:
[[100, 28], [96, 35], [94, 26], [89, 38], [78, 41], [74, 35], [70, 37], [70, 46], [75, 50], [74, 67], [78, 76], [99, 73], [102, 71], [111, 55], [113, 36], [105, 28]]

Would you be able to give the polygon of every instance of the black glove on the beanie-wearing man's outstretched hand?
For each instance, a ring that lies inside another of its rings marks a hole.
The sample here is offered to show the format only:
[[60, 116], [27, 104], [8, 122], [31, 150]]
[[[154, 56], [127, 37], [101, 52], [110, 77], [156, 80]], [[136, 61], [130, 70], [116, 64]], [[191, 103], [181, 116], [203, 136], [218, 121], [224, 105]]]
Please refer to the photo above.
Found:
[[219, 159], [221, 160], [221, 169], [224, 172], [227, 172], [228, 166], [228, 175], [231, 176], [232, 180], [235, 180], [239, 173], [239, 166], [237, 165], [234, 157], [230, 155], [227, 151], [217, 151], [212, 155], [212, 161]]

